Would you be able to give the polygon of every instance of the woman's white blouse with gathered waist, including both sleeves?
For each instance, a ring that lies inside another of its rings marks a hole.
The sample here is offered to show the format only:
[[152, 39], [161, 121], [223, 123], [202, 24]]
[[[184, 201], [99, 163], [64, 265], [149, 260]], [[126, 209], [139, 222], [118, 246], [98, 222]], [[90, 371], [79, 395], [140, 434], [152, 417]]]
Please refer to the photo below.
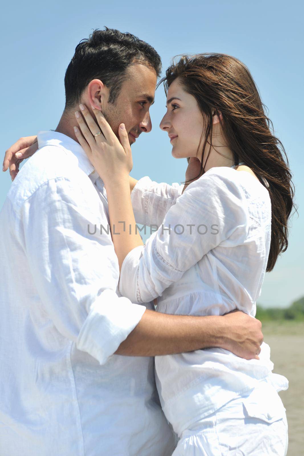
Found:
[[[214, 167], [182, 186], [140, 179], [131, 193], [138, 223], [159, 226], [146, 245], [122, 265], [119, 291], [132, 302], [158, 297], [157, 311], [251, 316], [267, 267], [271, 202], [267, 188], [247, 171]], [[288, 381], [272, 374], [270, 349], [245, 360], [222, 348], [158, 356], [156, 382], [167, 419], [191, 424], [266, 378], [276, 388]], [[175, 432], [179, 432], [175, 428]]]

